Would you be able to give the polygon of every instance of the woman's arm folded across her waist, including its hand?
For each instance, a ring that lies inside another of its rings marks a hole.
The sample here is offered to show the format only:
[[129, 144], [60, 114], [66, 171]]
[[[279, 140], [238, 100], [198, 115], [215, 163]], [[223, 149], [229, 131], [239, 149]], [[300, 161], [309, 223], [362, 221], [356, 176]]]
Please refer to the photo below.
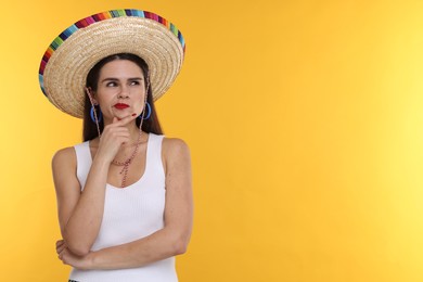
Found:
[[188, 145], [179, 139], [164, 139], [166, 171], [165, 227], [143, 239], [76, 257], [64, 251], [64, 264], [79, 269], [124, 269], [141, 267], [183, 254], [191, 238], [193, 200], [191, 159]]

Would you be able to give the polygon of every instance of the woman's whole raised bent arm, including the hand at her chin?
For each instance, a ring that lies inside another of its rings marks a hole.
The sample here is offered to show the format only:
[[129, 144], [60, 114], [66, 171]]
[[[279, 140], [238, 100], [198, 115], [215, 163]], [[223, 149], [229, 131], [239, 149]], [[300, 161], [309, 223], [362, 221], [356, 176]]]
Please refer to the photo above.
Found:
[[67, 248], [77, 256], [87, 255], [99, 234], [108, 168], [120, 145], [130, 141], [125, 125], [136, 117], [136, 114], [120, 120], [115, 117], [112, 124], [104, 127], [82, 191], [76, 176], [75, 150], [63, 149], [53, 157], [52, 169], [62, 236]]

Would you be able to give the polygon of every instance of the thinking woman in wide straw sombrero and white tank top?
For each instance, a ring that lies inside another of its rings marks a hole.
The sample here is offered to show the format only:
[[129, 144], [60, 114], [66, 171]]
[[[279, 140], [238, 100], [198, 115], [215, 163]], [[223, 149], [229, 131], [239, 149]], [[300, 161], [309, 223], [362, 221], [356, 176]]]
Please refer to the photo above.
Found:
[[69, 281], [177, 281], [192, 227], [190, 156], [162, 134], [154, 100], [179, 73], [182, 36], [155, 14], [117, 10], [77, 22], [50, 49], [41, 89], [84, 116], [85, 142], [52, 162]]

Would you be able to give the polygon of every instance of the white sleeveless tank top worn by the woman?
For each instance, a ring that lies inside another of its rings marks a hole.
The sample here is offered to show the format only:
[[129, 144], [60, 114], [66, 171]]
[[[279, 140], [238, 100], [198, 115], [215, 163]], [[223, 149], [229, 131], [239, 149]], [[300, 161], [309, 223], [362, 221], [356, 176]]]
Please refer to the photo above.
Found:
[[[145, 171], [140, 180], [124, 189], [106, 184], [103, 220], [92, 251], [132, 242], [164, 227], [166, 190], [162, 163], [163, 138], [149, 134]], [[84, 189], [92, 163], [88, 141], [75, 145], [75, 151], [77, 177]], [[78, 282], [178, 281], [175, 257], [131, 269], [73, 269], [69, 279]]]

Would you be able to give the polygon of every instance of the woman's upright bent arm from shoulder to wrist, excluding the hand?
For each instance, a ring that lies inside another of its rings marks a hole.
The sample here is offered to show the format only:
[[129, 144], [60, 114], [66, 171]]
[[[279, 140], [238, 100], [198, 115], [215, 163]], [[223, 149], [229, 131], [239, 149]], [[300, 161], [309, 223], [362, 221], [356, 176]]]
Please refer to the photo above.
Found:
[[81, 192], [76, 162], [75, 150], [66, 148], [54, 155], [52, 169], [62, 236], [72, 253], [85, 256], [100, 230], [110, 164], [95, 156]]

